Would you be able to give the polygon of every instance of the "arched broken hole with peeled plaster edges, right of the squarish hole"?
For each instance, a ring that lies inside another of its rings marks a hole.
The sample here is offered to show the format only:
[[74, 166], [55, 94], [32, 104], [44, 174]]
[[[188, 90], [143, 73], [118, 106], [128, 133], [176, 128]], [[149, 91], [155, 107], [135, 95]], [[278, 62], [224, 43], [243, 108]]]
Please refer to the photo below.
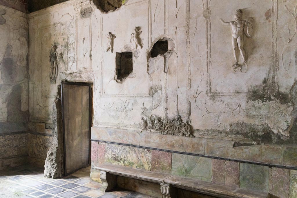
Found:
[[[167, 46], [165, 46], [167, 45]], [[172, 39], [168, 38], [166, 35], [159, 36], [151, 45], [148, 50], [148, 62], [147, 62], [147, 72], [148, 74], [154, 73], [157, 66], [159, 66], [159, 58], [164, 58], [164, 73], [167, 73], [169, 70], [169, 58], [173, 54], [175, 48], [175, 44]], [[165, 50], [167, 49], [167, 51]]]

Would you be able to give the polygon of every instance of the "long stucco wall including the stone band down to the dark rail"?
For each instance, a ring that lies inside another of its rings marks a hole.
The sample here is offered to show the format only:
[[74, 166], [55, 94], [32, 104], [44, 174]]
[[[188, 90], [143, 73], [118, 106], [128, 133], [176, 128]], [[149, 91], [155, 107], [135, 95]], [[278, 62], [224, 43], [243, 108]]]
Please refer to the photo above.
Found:
[[[277, 0], [129, 0], [102, 13], [89, 1], [70, 0], [31, 13], [30, 121], [51, 124], [61, 80], [92, 81], [92, 140], [249, 161], [265, 170], [296, 168], [295, 6]], [[255, 34], [244, 36], [246, 64], [238, 52], [242, 66], [233, 68], [231, 27], [219, 18], [233, 21], [237, 9], [244, 20], [253, 18]], [[137, 49], [135, 27], [141, 31]], [[113, 53], [107, 51], [108, 32], [116, 37]], [[170, 51], [150, 58], [159, 39], [168, 40]], [[53, 43], [56, 84], [48, 58]], [[116, 53], [127, 51], [133, 72], [119, 81]], [[176, 128], [184, 134], [190, 129], [190, 137], [165, 135], [182, 135]]]

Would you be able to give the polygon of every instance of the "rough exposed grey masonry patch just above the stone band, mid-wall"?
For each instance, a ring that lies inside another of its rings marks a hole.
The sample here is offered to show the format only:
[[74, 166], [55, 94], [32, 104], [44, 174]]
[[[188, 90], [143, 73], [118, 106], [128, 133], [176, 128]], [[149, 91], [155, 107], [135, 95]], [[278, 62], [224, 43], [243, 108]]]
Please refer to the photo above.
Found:
[[161, 117], [151, 115], [150, 118], [142, 118], [142, 130], [154, 130], [162, 135], [175, 135], [194, 137], [190, 132], [190, 125], [181, 120], [181, 116], [163, 121]]

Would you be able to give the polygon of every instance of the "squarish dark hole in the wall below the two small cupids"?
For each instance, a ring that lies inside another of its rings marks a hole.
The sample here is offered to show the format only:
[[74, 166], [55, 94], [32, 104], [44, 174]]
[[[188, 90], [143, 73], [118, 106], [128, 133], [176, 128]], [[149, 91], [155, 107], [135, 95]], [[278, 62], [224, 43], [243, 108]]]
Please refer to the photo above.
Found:
[[116, 80], [122, 81], [133, 72], [133, 53], [116, 53]]

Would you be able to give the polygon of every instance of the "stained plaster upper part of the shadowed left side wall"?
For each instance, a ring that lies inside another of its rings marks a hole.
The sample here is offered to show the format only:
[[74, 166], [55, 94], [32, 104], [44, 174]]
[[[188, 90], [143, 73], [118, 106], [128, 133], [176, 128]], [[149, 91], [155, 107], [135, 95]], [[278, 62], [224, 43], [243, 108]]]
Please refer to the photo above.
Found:
[[20, 130], [13, 124], [28, 121], [29, 115], [28, 21], [23, 12], [2, 5], [0, 10], [0, 132], [8, 132], [7, 122], [13, 132]]

